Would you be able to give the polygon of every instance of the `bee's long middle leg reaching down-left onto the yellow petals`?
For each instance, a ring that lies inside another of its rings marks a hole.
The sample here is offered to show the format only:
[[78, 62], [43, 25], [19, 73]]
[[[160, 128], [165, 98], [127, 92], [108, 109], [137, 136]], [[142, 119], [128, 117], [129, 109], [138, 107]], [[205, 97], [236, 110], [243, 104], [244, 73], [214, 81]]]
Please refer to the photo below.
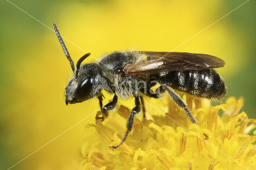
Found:
[[124, 140], [126, 139], [126, 137], [129, 134], [129, 132], [132, 130], [133, 123], [134, 123], [134, 116], [135, 116], [135, 114], [137, 114], [139, 112], [140, 112], [140, 98], [135, 97], [135, 107], [132, 109], [131, 114], [126, 123], [127, 131], [125, 132], [122, 141], [116, 146], [109, 146], [110, 149], [114, 150], [114, 149], [118, 148], [124, 142]]

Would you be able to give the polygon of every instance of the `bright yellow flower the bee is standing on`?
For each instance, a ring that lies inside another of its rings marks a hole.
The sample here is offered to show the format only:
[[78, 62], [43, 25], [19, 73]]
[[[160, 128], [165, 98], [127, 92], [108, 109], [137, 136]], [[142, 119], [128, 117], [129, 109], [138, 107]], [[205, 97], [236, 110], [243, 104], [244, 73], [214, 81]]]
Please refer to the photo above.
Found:
[[[244, 103], [242, 97], [230, 97], [215, 107], [192, 96], [183, 95], [183, 99], [198, 125], [190, 123], [186, 113], [169, 99], [162, 99], [159, 110], [146, 103], [148, 120], [136, 117], [134, 129], [114, 152], [108, 146], [121, 141], [130, 109], [121, 105], [118, 114], [112, 114], [103, 123], [86, 126], [94, 127], [98, 133], [82, 147], [80, 169], [255, 168], [256, 130], [254, 135], [249, 133], [256, 127], [256, 120], [239, 112]], [[224, 111], [222, 116], [218, 115], [220, 109]]]

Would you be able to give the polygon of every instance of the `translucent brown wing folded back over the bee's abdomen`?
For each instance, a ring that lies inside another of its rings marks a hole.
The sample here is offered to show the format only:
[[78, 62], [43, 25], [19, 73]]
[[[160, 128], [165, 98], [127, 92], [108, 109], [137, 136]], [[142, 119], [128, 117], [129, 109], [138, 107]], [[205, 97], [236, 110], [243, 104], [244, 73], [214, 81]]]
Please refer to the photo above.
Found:
[[160, 73], [164, 71], [201, 70], [224, 67], [225, 62], [212, 55], [182, 52], [141, 51], [147, 59], [137, 64], [127, 64], [126, 75]]

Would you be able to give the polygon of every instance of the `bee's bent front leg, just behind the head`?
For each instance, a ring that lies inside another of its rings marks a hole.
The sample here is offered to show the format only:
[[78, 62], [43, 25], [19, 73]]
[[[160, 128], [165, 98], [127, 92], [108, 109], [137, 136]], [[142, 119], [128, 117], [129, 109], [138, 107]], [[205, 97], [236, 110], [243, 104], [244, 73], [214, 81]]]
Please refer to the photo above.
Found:
[[100, 109], [101, 109], [102, 117], [96, 117], [96, 119], [102, 119], [102, 121], [103, 121], [105, 117], [108, 117], [108, 111], [110, 111], [116, 107], [118, 97], [117, 97], [117, 95], [114, 95], [112, 101], [110, 101], [108, 104], [104, 105], [104, 107], [102, 107], [102, 96], [98, 97], [98, 99], [100, 102]]

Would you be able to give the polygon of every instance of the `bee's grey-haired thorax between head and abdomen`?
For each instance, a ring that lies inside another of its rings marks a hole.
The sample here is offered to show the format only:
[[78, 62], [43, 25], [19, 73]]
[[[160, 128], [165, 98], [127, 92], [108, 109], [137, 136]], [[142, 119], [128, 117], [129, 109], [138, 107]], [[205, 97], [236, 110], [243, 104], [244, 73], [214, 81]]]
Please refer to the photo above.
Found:
[[102, 69], [102, 76], [110, 89], [116, 93], [118, 98], [129, 99], [130, 97], [137, 95], [138, 89], [143, 84], [139, 83], [138, 85], [138, 82], [146, 81], [147, 76], [134, 75], [126, 77], [115, 74], [115, 71], [124, 68], [127, 64], [136, 63], [143, 57], [143, 54], [134, 51], [116, 51], [109, 55], [105, 55], [103, 59], [99, 61], [99, 65]]

